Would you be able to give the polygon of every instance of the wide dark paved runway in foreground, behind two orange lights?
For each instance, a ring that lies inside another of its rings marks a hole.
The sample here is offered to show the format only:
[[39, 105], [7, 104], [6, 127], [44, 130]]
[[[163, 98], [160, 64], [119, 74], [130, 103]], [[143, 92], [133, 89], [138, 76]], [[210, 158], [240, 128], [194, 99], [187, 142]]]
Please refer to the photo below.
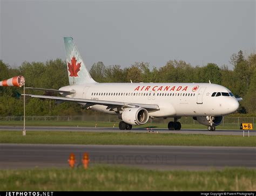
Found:
[[158, 170], [256, 169], [255, 147], [0, 144], [0, 169], [69, 167], [71, 152], [80, 164], [117, 164]]

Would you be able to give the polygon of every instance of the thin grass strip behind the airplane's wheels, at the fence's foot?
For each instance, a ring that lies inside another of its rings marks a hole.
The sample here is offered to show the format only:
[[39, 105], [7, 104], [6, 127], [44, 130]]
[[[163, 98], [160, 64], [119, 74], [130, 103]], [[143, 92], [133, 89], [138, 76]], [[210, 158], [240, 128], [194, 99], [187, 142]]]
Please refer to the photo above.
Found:
[[[95, 122], [95, 121], [26, 121], [26, 126], [75, 126], [75, 127], [109, 127], [118, 128], [119, 121], [117, 122]], [[0, 121], [0, 125], [11, 125], [11, 126], [18, 126], [23, 125], [23, 121]], [[240, 126], [240, 125], [239, 125]], [[236, 123], [235, 124], [225, 124], [217, 126], [218, 129], [232, 129], [232, 130], [239, 130], [239, 127]], [[134, 128], [160, 128], [160, 129], [167, 129], [167, 122], [166, 123], [146, 123], [140, 126], [134, 126]], [[181, 129], [205, 129], [207, 127], [202, 124], [182, 124]], [[255, 129], [254, 129], [255, 130]]]

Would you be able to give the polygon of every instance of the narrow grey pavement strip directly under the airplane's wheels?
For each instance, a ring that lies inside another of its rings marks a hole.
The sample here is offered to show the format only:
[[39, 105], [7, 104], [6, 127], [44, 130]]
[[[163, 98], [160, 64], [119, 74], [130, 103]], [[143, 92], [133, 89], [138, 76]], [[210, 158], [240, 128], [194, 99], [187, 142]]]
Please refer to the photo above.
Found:
[[[22, 126], [6, 126], [1, 125], [0, 130], [21, 131]], [[53, 127], [53, 126], [28, 126], [27, 131], [90, 131], [90, 132], [159, 132], [165, 134], [205, 134], [205, 135], [243, 135], [242, 130], [216, 130], [207, 131], [206, 129], [181, 129], [179, 131], [170, 131], [167, 129], [153, 128], [147, 130], [146, 128], [133, 128], [132, 130], [119, 130], [119, 128], [98, 128], [98, 127]], [[248, 135], [248, 131], [245, 131]], [[256, 130], [250, 130], [250, 136], [256, 136]]]

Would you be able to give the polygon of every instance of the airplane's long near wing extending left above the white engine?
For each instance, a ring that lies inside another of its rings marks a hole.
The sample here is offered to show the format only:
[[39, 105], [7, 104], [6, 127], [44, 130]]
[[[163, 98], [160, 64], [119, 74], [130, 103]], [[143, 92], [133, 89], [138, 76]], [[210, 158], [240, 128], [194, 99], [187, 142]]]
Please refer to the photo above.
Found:
[[59, 97], [59, 96], [45, 96], [45, 95], [29, 95], [29, 94], [25, 94], [25, 96], [37, 97], [41, 99], [86, 103], [85, 106], [88, 106], [88, 107], [93, 105], [103, 105], [103, 106], [108, 106], [109, 109], [113, 109], [117, 107], [128, 107], [128, 108], [142, 107], [147, 109], [149, 112], [159, 110], [159, 107], [156, 104], [126, 103], [126, 102], [118, 102], [118, 101], [89, 100], [89, 99], [79, 99], [79, 98], [69, 98], [69, 97]]

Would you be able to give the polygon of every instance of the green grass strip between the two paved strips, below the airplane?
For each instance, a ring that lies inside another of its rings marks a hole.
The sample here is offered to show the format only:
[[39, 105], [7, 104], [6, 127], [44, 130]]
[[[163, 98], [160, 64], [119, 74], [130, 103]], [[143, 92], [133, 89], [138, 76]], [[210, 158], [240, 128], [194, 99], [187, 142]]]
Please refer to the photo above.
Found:
[[153, 134], [141, 132], [0, 131], [0, 143], [256, 146], [256, 136]]

